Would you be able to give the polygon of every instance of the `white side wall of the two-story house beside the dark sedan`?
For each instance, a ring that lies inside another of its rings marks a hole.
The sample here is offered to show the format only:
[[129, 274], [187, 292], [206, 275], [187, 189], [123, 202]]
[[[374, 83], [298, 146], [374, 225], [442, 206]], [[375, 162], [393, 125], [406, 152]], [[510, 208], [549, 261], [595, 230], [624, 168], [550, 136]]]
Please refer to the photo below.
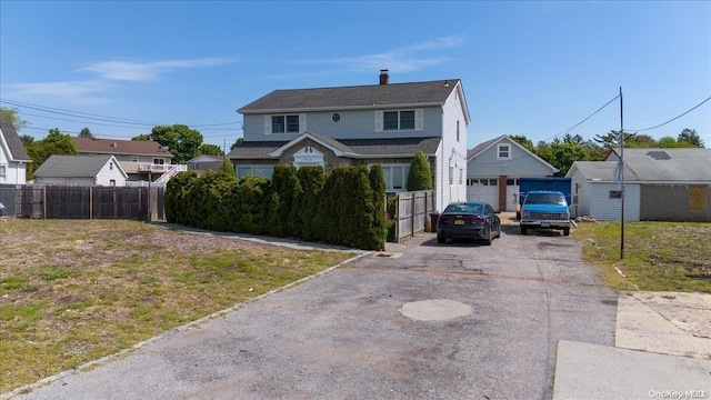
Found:
[[[441, 183], [443, 190], [438, 196], [438, 211], [442, 211], [452, 201], [467, 200], [467, 120], [462, 110], [460, 91], [453, 90], [442, 107], [442, 166]], [[457, 121], [459, 121], [459, 141], [457, 140]], [[450, 184], [450, 167], [453, 177]], [[439, 190], [439, 188], [438, 188]]]

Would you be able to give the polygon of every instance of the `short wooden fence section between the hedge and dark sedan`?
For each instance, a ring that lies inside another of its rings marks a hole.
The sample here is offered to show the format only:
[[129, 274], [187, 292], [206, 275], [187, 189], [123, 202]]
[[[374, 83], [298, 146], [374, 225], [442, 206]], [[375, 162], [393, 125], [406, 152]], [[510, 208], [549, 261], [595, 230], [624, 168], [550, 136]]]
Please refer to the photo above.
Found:
[[395, 196], [395, 242], [424, 232], [430, 213], [434, 212], [434, 191], [421, 190]]

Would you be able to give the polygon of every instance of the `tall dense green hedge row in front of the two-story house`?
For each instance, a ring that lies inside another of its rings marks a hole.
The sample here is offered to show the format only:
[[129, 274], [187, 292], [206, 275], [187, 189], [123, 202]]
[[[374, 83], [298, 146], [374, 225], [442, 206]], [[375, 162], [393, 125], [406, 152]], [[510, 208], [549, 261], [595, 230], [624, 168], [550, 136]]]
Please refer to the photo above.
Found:
[[173, 177], [169, 221], [211, 230], [293, 237], [365, 250], [384, 247], [382, 168], [277, 166], [273, 180], [224, 172]]

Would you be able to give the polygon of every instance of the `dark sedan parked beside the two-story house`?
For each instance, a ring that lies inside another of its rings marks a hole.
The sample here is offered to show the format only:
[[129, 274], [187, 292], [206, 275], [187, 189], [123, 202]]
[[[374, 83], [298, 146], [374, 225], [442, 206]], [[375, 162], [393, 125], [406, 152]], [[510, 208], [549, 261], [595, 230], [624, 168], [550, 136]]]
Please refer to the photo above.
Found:
[[493, 208], [483, 201], [453, 202], [437, 219], [437, 241], [448, 238], [483, 240], [491, 244], [501, 236], [501, 220]]

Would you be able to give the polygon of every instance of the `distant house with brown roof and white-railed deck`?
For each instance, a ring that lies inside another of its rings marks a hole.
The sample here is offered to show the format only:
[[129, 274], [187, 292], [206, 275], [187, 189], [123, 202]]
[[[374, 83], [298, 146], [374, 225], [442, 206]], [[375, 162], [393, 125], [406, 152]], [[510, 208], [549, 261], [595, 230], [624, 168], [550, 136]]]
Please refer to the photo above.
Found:
[[73, 138], [79, 156], [113, 156], [129, 181], [154, 181], [178, 168], [173, 154], [156, 141]]

